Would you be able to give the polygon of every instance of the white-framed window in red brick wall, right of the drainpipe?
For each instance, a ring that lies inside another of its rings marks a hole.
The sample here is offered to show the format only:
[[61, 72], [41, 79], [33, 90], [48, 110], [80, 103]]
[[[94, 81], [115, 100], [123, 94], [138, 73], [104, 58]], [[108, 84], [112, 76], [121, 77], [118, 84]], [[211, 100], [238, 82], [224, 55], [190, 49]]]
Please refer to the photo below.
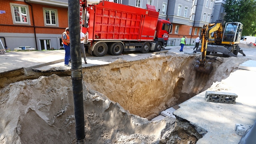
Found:
[[43, 8], [44, 10], [44, 25], [58, 26], [58, 11], [52, 8]]

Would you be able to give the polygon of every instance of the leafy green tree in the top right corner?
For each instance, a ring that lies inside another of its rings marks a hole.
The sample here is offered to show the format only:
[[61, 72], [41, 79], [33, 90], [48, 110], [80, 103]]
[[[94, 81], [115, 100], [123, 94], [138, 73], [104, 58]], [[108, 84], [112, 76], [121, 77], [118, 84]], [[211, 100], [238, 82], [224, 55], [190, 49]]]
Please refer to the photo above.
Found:
[[242, 36], [256, 36], [256, 0], [226, 0], [226, 22], [241, 22]]

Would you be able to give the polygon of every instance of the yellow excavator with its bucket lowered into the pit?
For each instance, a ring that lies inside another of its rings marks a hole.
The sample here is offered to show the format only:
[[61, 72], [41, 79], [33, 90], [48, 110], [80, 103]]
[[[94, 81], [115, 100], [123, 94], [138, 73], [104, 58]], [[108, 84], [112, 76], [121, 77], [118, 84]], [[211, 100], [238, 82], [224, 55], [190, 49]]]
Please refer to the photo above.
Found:
[[223, 27], [222, 20], [204, 24], [200, 34], [200, 40], [202, 41], [201, 49], [194, 51], [194, 53], [201, 52], [200, 60], [196, 61], [195, 69], [198, 72], [210, 74], [212, 62], [207, 62], [206, 55], [209, 55], [211, 52], [220, 52], [224, 57], [237, 57], [238, 52], [245, 56], [238, 46], [242, 29], [243, 24], [240, 22], [227, 22], [225, 28]]

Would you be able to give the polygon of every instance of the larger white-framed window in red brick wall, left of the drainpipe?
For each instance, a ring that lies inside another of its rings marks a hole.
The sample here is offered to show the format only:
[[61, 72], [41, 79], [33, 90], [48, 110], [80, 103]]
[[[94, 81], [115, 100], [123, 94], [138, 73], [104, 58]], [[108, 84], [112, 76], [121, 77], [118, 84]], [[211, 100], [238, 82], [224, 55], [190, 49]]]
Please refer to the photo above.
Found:
[[13, 24], [30, 25], [30, 18], [27, 5], [10, 3], [10, 6]]

